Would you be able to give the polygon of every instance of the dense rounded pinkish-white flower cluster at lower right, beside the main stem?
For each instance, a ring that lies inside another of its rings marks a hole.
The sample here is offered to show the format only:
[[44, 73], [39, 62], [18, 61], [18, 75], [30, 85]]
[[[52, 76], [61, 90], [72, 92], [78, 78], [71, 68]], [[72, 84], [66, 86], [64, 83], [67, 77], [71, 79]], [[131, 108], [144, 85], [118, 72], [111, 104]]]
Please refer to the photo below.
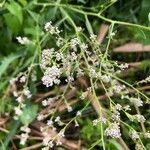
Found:
[[105, 130], [106, 136], [110, 136], [112, 138], [121, 137], [120, 126], [118, 123], [111, 123], [111, 125]]

